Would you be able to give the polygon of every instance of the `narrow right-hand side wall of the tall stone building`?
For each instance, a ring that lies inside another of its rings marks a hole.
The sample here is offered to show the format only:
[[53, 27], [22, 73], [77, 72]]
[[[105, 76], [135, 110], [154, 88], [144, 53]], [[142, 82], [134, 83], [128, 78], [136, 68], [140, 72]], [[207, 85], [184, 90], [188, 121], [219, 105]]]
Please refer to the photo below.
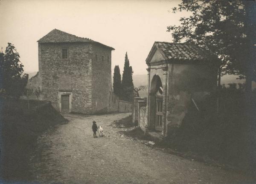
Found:
[[95, 113], [114, 110], [112, 107], [111, 49], [96, 44], [93, 44], [92, 105]]

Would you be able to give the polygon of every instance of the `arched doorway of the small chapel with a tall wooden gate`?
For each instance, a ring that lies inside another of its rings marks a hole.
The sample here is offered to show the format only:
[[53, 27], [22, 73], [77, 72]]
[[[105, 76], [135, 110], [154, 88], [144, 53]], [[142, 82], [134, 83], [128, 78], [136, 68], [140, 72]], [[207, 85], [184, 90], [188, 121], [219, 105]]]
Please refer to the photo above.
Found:
[[150, 85], [149, 128], [162, 131], [163, 126], [163, 85], [158, 75], [154, 75]]

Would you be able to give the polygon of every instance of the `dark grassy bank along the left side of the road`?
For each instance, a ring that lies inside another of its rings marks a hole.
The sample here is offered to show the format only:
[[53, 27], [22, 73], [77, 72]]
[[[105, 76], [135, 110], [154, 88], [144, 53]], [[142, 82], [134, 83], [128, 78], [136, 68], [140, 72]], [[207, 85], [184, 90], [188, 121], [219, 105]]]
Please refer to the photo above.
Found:
[[45, 130], [67, 122], [50, 102], [1, 99], [1, 178], [26, 181], [30, 178], [29, 157], [37, 137]]

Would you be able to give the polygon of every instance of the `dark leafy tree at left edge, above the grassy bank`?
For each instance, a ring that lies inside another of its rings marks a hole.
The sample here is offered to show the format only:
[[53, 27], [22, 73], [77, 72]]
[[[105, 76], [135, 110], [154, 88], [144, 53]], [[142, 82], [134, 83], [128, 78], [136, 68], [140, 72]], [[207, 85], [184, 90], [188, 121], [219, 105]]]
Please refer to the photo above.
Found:
[[6, 95], [19, 98], [26, 87], [28, 74], [23, 74], [23, 65], [20, 62], [20, 55], [11, 43], [8, 43], [5, 54], [0, 54], [1, 88]]

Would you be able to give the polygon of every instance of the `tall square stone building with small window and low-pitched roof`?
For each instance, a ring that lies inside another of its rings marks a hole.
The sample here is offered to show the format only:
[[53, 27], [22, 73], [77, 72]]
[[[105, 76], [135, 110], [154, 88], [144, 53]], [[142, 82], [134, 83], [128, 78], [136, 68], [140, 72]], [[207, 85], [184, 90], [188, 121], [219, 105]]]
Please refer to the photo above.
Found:
[[54, 29], [38, 40], [42, 99], [59, 111], [111, 111], [114, 48]]

